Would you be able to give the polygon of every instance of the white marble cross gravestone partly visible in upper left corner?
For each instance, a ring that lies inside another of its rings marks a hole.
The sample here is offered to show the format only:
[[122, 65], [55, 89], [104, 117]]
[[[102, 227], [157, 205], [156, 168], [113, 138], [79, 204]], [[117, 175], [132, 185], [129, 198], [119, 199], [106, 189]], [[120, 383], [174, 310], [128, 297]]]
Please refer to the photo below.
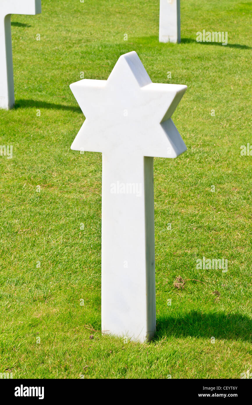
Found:
[[11, 14], [39, 14], [41, 0], [0, 0], [0, 108], [14, 106]]

